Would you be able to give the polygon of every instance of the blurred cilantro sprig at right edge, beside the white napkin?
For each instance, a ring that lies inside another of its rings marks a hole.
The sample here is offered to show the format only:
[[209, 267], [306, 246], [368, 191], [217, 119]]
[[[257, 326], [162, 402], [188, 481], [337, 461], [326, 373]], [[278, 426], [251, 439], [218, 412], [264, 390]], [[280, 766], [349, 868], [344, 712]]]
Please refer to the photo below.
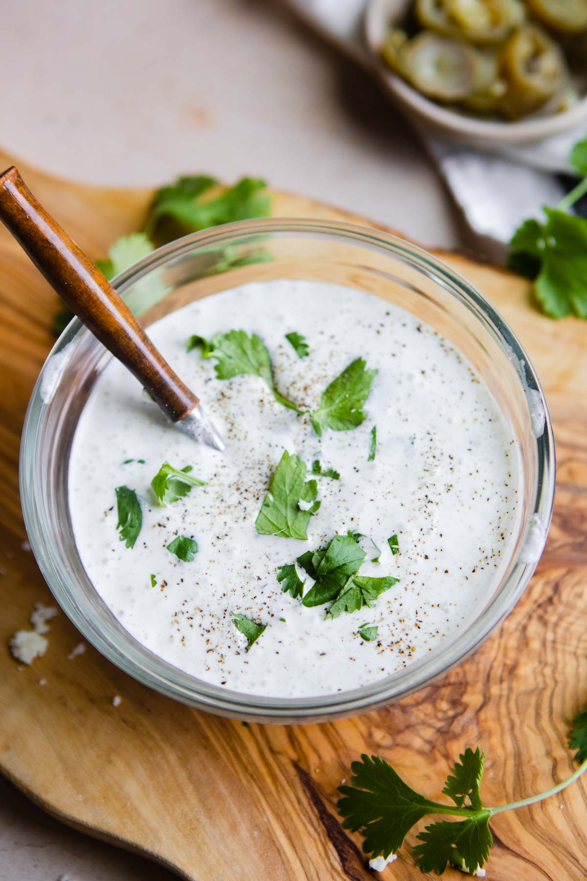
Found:
[[587, 319], [587, 220], [569, 208], [587, 193], [587, 138], [573, 147], [569, 161], [583, 176], [554, 208], [543, 208], [546, 220], [530, 218], [510, 241], [508, 265], [531, 278], [535, 299], [545, 315], [574, 313]]

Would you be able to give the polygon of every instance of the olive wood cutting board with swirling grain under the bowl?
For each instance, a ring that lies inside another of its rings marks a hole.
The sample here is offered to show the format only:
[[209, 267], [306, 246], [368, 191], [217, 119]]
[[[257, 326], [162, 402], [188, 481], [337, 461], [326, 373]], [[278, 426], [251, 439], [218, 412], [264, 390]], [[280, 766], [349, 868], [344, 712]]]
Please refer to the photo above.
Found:
[[[10, 164], [0, 154], [0, 167]], [[92, 189], [21, 171], [92, 258], [142, 226], [148, 190]], [[274, 213], [372, 226], [286, 193], [275, 193]], [[360, 836], [341, 829], [335, 802], [360, 753], [378, 753], [437, 798], [459, 751], [481, 744], [489, 805], [549, 788], [574, 769], [567, 731], [587, 707], [587, 324], [539, 315], [525, 281], [503, 270], [440, 256], [501, 310], [544, 383], [558, 453], [547, 550], [503, 626], [434, 685], [339, 722], [244, 725], [151, 692], [90, 646], [67, 660], [79, 634], [63, 614], [52, 622], [47, 654], [31, 667], [18, 670], [8, 652], [33, 604], [52, 599], [22, 546], [18, 444], [54, 342], [57, 300], [0, 229], [0, 771], [55, 817], [190, 879], [358, 881], [373, 873]], [[586, 787], [583, 778], [547, 802], [498, 815], [488, 879], [587, 877]], [[414, 840], [410, 833], [383, 877], [422, 877], [409, 853]]]

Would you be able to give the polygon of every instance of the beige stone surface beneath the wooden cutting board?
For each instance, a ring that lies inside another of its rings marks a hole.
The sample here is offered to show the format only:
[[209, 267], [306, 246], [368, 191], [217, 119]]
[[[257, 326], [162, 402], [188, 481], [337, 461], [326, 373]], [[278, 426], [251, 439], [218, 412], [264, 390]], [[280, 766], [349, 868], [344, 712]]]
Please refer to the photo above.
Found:
[[[264, 176], [451, 247], [437, 175], [371, 81], [268, 0], [20, 0], [3, 16], [0, 144], [50, 172], [151, 184]], [[0, 781], [0, 878], [171, 877]]]

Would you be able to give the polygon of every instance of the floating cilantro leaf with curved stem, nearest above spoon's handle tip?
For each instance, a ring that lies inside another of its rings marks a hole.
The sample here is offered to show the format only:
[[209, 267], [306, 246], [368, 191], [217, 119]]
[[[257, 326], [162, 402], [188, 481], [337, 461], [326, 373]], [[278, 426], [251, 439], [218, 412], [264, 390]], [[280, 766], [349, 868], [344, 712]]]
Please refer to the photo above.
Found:
[[256, 333], [249, 337], [245, 330], [229, 330], [225, 334], [216, 333], [210, 341], [196, 334], [188, 339], [187, 351], [190, 352], [196, 346], [202, 348], [204, 358], [217, 360], [214, 369], [219, 380], [231, 380], [234, 376], [249, 374], [260, 376], [267, 382], [278, 403], [297, 413], [301, 412], [295, 403], [275, 389], [273, 367], [267, 347]]

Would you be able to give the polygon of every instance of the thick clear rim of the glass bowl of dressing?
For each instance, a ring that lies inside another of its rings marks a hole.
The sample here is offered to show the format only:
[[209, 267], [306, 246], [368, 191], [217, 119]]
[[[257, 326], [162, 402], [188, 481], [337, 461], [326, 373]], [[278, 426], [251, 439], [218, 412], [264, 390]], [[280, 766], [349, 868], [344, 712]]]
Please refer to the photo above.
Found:
[[[272, 233], [285, 235], [301, 233], [312, 237], [325, 237], [329, 240], [334, 238], [339, 241], [355, 242], [366, 247], [383, 249], [389, 255], [398, 258], [403, 263], [408, 263], [443, 285], [444, 289], [449, 290], [453, 296], [464, 303], [486, 328], [493, 329], [501, 344], [504, 347], [510, 347], [509, 351], [513, 357], [518, 361], [525, 362], [526, 387], [538, 390], [546, 414], [544, 433], [538, 439], [533, 439], [537, 454], [537, 481], [533, 487], [533, 513], [539, 516], [541, 524], [545, 527], [541, 552], [546, 543], [547, 529], [552, 519], [555, 469], [552, 424], [538, 376], [525, 349], [507, 322], [483, 297], [481, 292], [467, 282], [459, 272], [452, 270], [447, 264], [423, 248], [404, 241], [391, 233], [341, 221], [310, 218], [244, 220], [213, 227], [201, 233], [192, 233], [177, 241], [172, 241], [122, 272], [114, 279], [113, 284], [116, 290], [123, 295], [129, 287], [151, 270], [176, 262], [183, 255], [192, 253], [194, 248], [224, 247], [234, 241], [242, 241], [243, 238], [249, 236], [270, 235]], [[69, 344], [82, 327], [83, 325], [77, 319], [72, 321], [55, 343], [48, 359]], [[121, 670], [143, 685], [148, 685], [168, 697], [211, 713], [257, 722], [319, 722], [383, 707], [394, 700], [399, 700], [424, 688], [472, 655], [513, 609], [532, 578], [538, 559], [536, 562], [525, 563], [519, 559], [520, 552], [518, 551], [517, 559], [513, 561], [515, 565], [512, 566], [501, 589], [495, 594], [492, 602], [488, 604], [479, 618], [467, 627], [466, 631], [459, 634], [459, 637], [455, 640], [445, 640], [445, 643], [429, 656], [409, 664], [391, 677], [385, 677], [371, 685], [349, 692], [298, 699], [265, 698], [225, 691], [219, 686], [209, 685], [173, 667], [158, 655], [154, 655], [140, 646], [129, 633], [127, 634], [129, 644], [122, 647], [119, 641], [97, 626], [80, 609], [75, 596], [75, 588], [70, 591], [65, 587], [64, 581], [67, 580], [65, 561], [60, 561], [61, 565], [60, 563], [55, 565], [55, 561], [51, 559], [48, 529], [43, 518], [39, 516], [35, 504], [34, 497], [37, 492], [40, 492], [43, 478], [36, 467], [40, 416], [44, 406], [40, 397], [40, 384], [48, 359], [41, 369], [26, 411], [20, 448], [21, 504], [34, 556], [55, 599], [84, 638]], [[522, 384], [521, 380], [520, 384]], [[532, 498], [532, 487], [529, 488], [529, 492]], [[139, 647], [138, 651], [136, 647]]]

